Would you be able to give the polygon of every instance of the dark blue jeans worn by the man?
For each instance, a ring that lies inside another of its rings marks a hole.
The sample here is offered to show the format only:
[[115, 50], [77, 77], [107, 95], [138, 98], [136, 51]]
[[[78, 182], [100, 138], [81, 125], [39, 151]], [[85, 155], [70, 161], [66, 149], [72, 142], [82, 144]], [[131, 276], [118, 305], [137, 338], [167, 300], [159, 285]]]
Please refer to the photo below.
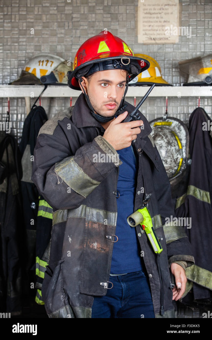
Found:
[[106, 295], [94, 296], [92, 318], [155, 317], [149, 282], [143, 270], [110, 276], [110, 282], [113, 288], [108, 289]]

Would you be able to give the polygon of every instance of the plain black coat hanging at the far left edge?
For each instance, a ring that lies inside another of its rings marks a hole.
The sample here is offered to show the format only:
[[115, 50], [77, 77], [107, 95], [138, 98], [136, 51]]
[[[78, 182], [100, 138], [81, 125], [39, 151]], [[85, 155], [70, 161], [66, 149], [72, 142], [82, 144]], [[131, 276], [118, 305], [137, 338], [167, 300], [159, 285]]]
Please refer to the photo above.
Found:
[[20, 194], [20, 154], [15, 137], [0, 143], [0, 307], [21, 314], [21, 249], [23, 228]]

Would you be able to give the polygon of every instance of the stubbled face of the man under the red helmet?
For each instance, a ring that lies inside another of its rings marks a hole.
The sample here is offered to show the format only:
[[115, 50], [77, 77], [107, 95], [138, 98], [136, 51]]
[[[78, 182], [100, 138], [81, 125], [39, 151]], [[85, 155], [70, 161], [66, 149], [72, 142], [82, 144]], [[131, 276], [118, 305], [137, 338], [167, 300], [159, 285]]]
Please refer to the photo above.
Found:
[[85, 92], [95, 113], [102, 117], [115, 115], [124, 95], [126, 75], [127, 71], [125, 70], [112, 69], [93, 73], [89, 82], [85, 77], [82, 77]]

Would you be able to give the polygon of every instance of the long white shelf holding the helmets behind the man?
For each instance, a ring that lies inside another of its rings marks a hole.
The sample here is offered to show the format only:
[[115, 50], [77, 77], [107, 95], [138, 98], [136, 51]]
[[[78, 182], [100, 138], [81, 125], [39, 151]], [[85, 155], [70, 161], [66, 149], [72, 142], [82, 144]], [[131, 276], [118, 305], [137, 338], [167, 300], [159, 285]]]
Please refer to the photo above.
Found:
[[[44, 87], [42, 85], [0, 85], [0, 98], [37, 98]], [[129, 86], [126, 97], [143, 97], [149, 86]], [[79, 97], [81, 91], [68, 86], [50, 85], [42, 97]], [[212, 86], [155, 86], [148, 97], [212, 97]]]

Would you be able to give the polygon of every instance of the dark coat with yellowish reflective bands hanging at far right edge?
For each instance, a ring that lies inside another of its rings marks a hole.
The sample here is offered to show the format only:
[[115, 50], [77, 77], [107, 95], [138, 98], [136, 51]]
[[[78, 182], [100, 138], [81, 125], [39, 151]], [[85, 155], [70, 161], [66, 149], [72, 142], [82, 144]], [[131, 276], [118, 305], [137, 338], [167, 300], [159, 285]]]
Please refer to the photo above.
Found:
[[[186, 268], [186, 292], [193, 286], [194, 299], [212, 297], [212, 120], [201, 107], [189, 120], [192, 159], [187, 192], [176, 201], [176, 216], [190, 218], [184, 230], [192, 245], [195, 265]], [[185, 292], [185, 293], [186, 293]], [[184, 293], [184, 296], [185, 296]]]

